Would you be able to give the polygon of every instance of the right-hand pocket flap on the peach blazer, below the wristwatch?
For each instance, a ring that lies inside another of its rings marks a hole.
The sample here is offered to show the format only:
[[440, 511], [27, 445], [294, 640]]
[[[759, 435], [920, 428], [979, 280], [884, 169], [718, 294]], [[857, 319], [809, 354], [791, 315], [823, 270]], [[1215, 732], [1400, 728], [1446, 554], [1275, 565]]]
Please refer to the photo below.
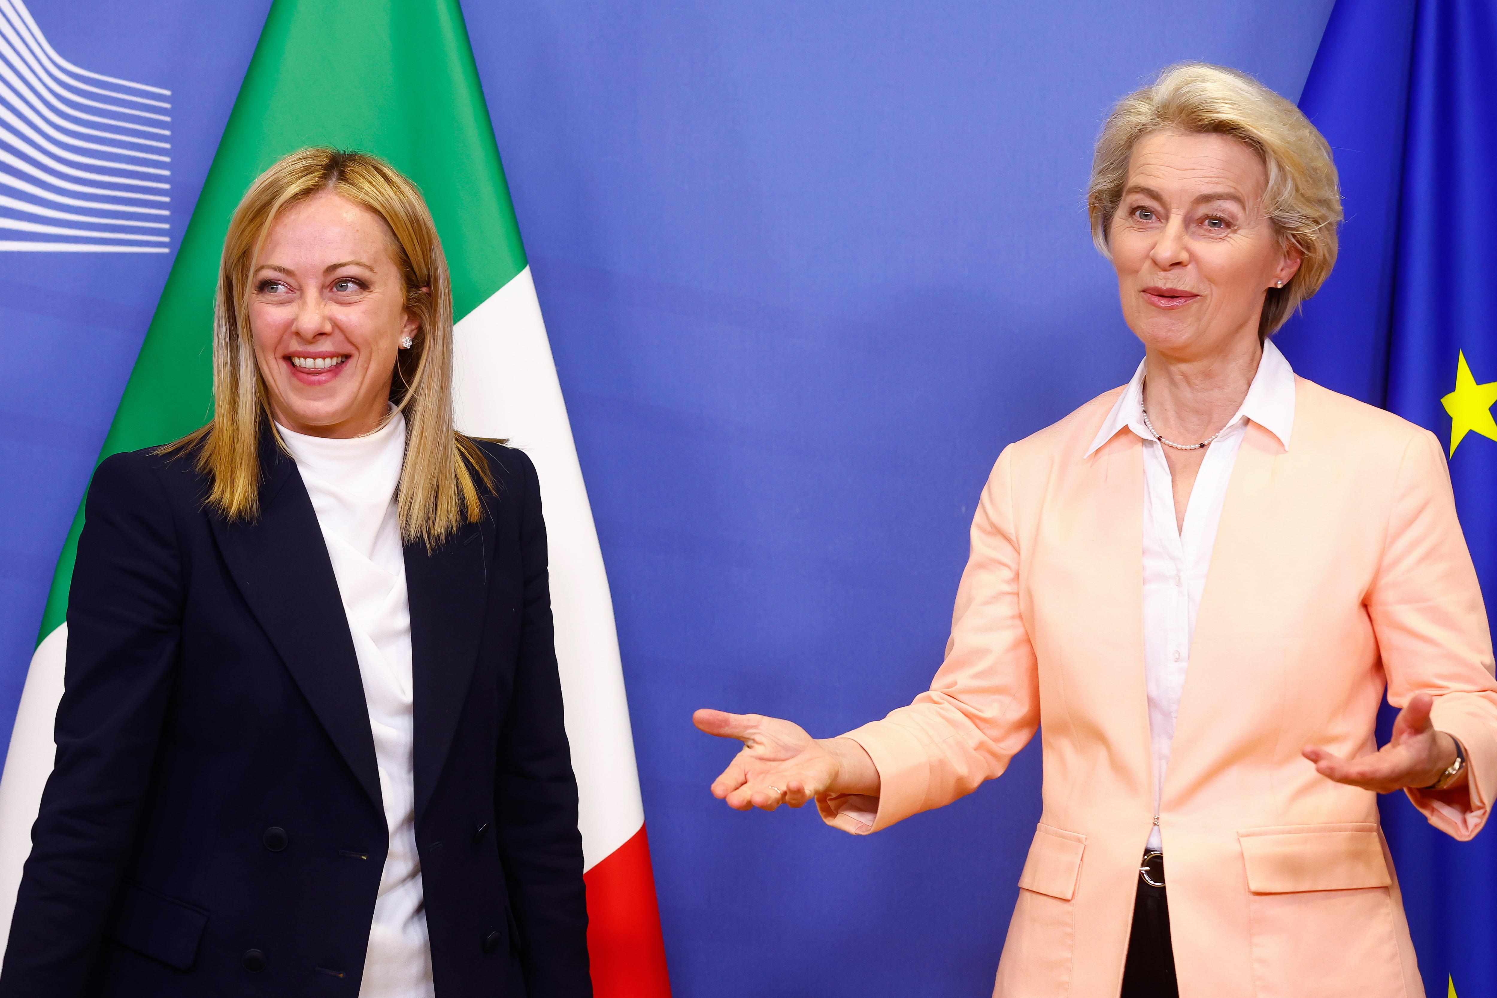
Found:
[[1356, 890], [1392, 883], [1377, 826], [1290, 824], [1237, 833], [1256, 895]]

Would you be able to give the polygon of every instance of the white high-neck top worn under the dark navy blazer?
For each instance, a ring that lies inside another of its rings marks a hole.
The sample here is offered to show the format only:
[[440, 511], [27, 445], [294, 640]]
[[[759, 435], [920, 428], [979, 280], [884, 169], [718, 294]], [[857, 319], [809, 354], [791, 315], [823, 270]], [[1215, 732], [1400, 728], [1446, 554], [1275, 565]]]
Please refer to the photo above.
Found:
[[365, 437], [305, 437], [280, 426], [332, 560], [374, 733], [389, 851], [374, 901], [359, 998], [434, 998], [416, 854], [410, 603], [395, 513], [406, 420]]

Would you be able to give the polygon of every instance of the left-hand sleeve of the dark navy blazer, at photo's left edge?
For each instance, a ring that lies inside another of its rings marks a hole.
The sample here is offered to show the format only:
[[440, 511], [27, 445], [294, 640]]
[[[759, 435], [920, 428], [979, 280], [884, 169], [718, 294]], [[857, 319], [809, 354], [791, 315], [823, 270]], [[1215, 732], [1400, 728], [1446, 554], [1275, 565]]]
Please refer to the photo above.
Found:
[[145, 455], [94, 471], [67, 606], [57, 757], [31, 827], [0, 995], [91, 994], [177, 661], [178, 542]]

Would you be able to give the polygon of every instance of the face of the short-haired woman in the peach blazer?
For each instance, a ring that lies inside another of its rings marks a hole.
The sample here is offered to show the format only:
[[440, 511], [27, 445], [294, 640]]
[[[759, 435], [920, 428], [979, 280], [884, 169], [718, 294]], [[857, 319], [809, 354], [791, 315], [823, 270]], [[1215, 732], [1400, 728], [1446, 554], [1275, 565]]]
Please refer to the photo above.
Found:
[[1263, 215], [1265, 184], [1263, 162], [1231, 136], [1157, 132], [1133, 147], [1109, 247], [1123, 317], [1151, 353], [1256, 349], [1266, 289], [1299, 269]]

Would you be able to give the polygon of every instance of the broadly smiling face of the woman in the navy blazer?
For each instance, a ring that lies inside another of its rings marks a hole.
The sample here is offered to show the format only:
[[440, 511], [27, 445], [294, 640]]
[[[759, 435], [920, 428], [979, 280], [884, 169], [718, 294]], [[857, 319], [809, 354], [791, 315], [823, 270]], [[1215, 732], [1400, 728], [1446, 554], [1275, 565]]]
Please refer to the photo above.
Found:
[[401, 337], [418, 320], [370, 209], [322, 192], [286, 209], [251, 275], [254, 358], [275, 422], [311, 437], [358, 437], [385, 417]]

